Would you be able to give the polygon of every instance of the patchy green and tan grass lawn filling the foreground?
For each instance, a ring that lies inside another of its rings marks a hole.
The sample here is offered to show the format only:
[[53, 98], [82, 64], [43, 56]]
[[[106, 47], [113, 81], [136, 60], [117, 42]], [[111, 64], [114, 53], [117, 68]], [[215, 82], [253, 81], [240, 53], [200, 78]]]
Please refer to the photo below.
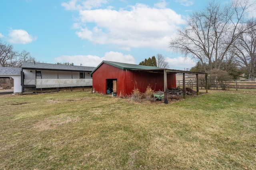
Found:
[[256, 169], [256, 91], [179, 102], [0, 96], [0, 169]]

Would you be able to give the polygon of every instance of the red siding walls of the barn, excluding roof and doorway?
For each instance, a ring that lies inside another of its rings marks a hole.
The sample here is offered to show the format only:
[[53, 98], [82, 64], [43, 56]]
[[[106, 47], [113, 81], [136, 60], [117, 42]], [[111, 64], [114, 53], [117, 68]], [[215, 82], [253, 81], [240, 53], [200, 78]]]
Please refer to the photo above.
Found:
[[[140, 92], [145, 92], [147, 86], [153, 90], [164, 89], [164, 73], [122, 70], [120, 68], [102, 63], [92, 74], [92, 86], [98, 93], [106, 94], [106, 79], [117, 79], [117, 94], [131, 94], [134, 86]], [[175, 73], [167, 74], [168, 88], [176, 87]]]

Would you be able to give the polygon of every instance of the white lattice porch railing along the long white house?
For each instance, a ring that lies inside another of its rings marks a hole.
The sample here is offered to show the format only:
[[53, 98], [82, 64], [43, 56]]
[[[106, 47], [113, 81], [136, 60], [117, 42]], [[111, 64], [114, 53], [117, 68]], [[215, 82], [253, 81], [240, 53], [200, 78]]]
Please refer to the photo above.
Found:
[[36, 88], [92, 86], [92, 79], [24, 79], [24, 85], [36, 85]]

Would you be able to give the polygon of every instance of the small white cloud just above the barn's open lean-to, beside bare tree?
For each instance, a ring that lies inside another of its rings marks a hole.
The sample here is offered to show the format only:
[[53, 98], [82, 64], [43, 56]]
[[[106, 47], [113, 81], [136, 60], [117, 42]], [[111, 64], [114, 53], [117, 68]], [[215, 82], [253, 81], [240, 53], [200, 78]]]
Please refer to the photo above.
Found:
[[186, 68], [191, 68], [196, 65], [196, 63], [190, 58], [177, 57], [177, 58], [169, 58], [165, 59], [167, 63], [169, 63], [170, 69], [175, 70], [184, 70]]

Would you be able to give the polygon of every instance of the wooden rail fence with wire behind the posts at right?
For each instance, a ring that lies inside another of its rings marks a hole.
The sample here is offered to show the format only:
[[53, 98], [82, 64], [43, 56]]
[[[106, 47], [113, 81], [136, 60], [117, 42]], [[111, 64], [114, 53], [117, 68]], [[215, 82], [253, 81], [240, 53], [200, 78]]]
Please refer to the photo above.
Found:
[[[186, 87], [196, 89], [196, 80], [186, 80]], [[183, 81], [176, 81], [176, 87], [182, 87]], [[198, 87], [206, 89], [206, 80], [198, 80]], [[251, 80], [207, 80], [207, 88], [211, 90], [256, 89], [256, 81]]]

